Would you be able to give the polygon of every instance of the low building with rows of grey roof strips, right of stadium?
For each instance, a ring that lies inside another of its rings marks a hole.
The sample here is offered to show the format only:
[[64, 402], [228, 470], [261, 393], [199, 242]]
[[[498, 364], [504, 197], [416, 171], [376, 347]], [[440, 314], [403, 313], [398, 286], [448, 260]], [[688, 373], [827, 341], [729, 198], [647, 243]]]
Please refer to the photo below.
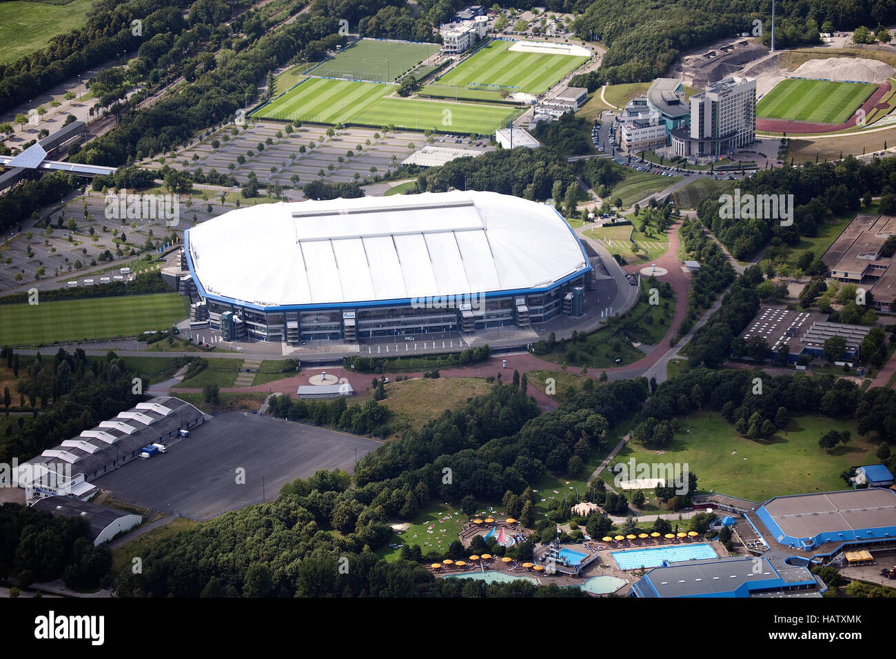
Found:
[[859, 346], [870, 330], [865, 325], [831, 323], [825, 314], [817, 311], [761, 307], [737, 337], [737, 344], [732, 345], [732, 354], [743, 358], [737, 354], [739, 349], [747, 340], [758, 336], [768, 346], [766, 359], [775, 359], [781, 346], [787, 346], [788, 361], [796, 362], [800, 355], [823, 357], [824, 342], [831, 336], [842, 336], [846, 339], [846, 351], [840, 357], [851, 360], [857, 356]]

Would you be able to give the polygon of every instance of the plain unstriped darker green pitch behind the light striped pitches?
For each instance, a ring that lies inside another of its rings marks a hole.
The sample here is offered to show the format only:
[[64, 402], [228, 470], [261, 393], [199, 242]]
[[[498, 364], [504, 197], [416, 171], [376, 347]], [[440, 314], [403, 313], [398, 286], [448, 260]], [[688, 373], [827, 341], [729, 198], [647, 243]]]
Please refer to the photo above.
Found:
[[438, 51], [437, 44], [361, 39], [314, 68], [313, 75], [392, 82]]

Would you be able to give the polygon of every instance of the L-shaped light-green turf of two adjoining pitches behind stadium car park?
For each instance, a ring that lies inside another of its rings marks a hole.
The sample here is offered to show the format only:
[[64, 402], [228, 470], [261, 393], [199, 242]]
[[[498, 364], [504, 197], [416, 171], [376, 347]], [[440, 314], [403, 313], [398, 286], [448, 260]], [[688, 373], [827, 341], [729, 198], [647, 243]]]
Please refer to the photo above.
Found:
[[507, 105], [387, 98], [396, 88], [376, 82], [310, 78], [254, 114], [263, 119], [317, 124], [488, 134], [521, 112]]

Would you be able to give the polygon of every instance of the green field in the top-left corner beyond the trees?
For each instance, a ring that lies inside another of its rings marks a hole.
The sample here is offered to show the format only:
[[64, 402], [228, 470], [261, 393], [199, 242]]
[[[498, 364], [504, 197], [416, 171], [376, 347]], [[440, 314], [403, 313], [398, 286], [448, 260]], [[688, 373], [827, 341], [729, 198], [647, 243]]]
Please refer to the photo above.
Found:
[[45, 48], [57, 34], [82, 27], [93, 0], [69, 4], [0, 3], [0, 64]]

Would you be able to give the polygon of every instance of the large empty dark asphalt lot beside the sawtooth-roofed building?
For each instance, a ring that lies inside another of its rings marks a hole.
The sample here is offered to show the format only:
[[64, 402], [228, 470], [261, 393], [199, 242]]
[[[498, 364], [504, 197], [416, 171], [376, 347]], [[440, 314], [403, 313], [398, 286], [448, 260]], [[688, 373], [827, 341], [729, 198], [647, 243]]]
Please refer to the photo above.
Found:
[[[380, 445], [373, 439], [291, 421], [227, 412], [206, 421], [168, 452], [132, 460], [92, 481], [138, 506], [204, 521], [262, 497], [277, 498], [288, 481], [318, 469], [348, 471]], [[237, 469], [245, 482], [237, 483]], [[264, 479], [264, 481], [262, 481]]]

